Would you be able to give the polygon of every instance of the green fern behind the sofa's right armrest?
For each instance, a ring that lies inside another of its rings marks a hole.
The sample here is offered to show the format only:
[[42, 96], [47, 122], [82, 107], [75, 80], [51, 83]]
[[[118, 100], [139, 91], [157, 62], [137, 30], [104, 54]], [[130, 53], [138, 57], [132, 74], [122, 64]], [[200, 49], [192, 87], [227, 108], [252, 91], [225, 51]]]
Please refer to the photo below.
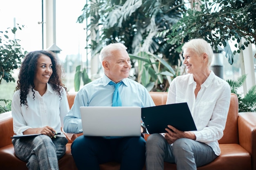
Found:
[[238, 112], [256, 112], [256, 85], [252, 86], [247, 94], [238, 93], [238, 88], [243, 86], [246, 75], [238, 77], [236, 81], [227, 80], [231, 87], [231, 93], [235, 93], [238, 97]]

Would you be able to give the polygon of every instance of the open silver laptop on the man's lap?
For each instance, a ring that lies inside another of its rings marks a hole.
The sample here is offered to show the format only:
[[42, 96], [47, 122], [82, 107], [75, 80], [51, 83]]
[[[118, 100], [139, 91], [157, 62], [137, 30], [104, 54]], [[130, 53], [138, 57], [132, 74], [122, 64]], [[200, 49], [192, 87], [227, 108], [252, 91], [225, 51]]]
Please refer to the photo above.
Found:
[[140, 107], [80, 107], [85, 136], [140, 136]]

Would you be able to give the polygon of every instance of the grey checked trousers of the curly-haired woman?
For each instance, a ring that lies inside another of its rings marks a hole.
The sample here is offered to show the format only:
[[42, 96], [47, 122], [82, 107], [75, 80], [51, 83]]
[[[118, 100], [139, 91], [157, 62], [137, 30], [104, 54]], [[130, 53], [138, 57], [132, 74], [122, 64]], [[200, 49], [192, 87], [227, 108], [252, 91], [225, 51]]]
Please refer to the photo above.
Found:
[[27, 162], [29, 170], [58, 170], [58, 159], [66, 152], [65, 137], [46, 135], [12, 139], [16, 156]]

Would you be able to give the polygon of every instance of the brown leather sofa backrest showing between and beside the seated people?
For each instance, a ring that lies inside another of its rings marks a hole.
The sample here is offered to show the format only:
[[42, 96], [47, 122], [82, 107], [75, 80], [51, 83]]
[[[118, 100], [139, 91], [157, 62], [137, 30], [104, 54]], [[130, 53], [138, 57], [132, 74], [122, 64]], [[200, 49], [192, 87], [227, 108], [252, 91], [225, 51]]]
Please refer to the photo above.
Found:
[[[74, 97], [77, 92], [69, 93], [67, 99], [70, 108], [74, 104]], [[166, 104], [167, 92], [149, 92], [156, 106]], [[223, 137], [219, 144], [238, 144], [238, 98], [236, 94], [231, 93], [229, 113], [227, 116], [226, 127]]]

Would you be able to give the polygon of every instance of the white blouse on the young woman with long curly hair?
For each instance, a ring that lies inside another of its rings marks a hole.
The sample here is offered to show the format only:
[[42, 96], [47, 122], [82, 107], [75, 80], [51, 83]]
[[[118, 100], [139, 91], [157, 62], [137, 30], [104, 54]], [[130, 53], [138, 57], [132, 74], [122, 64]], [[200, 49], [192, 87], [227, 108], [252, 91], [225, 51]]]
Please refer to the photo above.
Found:
[[[20, 106], [20, 91], [13, 94], [11, 114], [13, 117], [13, 131], [22, 135], [29, 128], [42, 128], [50, 126], [57, 132], [61, 132], [63, 118], [69, 112], [67, 95], [63, 88], [61, 97], [47, 84], [47, 90], [43, 96], [38, 91], [30, 90], [27, 95], [27, 105]], [[61, 136], [65, 137], [64, 134]]]

